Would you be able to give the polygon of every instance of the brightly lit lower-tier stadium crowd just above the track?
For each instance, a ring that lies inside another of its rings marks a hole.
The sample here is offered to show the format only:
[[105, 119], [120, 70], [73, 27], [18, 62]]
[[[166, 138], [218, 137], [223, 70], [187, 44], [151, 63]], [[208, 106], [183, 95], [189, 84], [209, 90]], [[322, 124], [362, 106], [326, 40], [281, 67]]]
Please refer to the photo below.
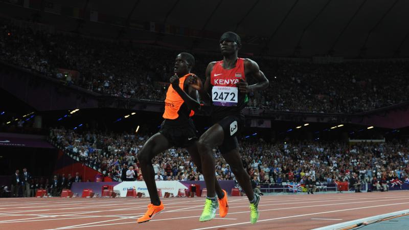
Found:
[[[118, 180], [143, 180], [137, 153], [147, 135], [128, 133], [75, 132], [51, 129], [50, 141], [104, 175]], [[341, 142], [269, 143], [240, 142], [243, 166], [259, 183], [349, 181], [352, 175], [362, 182], [400, 179], [409, 181], [408, 141], [385, 143]], [[216, 154], [220, 153], [215, 150]], [[129, 168], [132, 167], [132, 168]], [[203, 180], [191, 157], [183, 149], [169, 149], [153, 159], [156, 180]], [[134, 171], [126, 178], [126, 171]], [[216, 157], [216, 177], [235, 179], [223, 157]]]

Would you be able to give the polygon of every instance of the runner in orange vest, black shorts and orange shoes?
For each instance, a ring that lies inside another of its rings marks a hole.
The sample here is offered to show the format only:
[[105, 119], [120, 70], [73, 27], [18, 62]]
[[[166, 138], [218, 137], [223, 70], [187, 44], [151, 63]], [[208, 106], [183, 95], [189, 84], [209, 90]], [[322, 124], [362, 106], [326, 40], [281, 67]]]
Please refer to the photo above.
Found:
[[[197, 132], [190, 117], [194, 110], [200, 109], [198, 92], [196, 88], [201, 87], [201, 81], [197, 80], [192, 85], [186, 81], [189, 77], [198, 77], [190, 73], [194, 66], [195, 59], [189, 53], [180, 53], [176, 56], [174, 66], [174, 76], [170, 78], [171, 85], [168, 88], [165, 99], [165, 119], [158, 133], [151, 136], [141, 151], [138, 153], [140, 169], [148, 188], [151, 203], [144, 216], [138, 219], [138, 223], [149, 221], [154, 215], [164, 210], [164, 205], [157, 195], [156, 183], [154, 180], [154, 170], [152, 158], [157, 154], [174, 147], [185, 148], [197, 166], [197, 171], [201, 172], [201, 161], [197, 150]], [[178, 77], [182, 76], [182, 77]], [[223, 207], [220, 208], [220, 216], [226, 216], [228, 212], [227, 193], [220, 188], [215, 180], [217, 196], [222, 200]]]

